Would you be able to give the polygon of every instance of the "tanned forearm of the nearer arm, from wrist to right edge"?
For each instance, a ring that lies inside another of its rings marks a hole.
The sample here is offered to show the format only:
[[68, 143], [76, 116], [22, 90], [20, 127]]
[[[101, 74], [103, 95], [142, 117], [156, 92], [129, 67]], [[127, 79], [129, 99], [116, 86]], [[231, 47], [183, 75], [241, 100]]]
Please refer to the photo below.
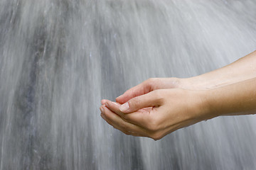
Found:
[[203, 91], [208, 118], [256, 113], [256, 78]]

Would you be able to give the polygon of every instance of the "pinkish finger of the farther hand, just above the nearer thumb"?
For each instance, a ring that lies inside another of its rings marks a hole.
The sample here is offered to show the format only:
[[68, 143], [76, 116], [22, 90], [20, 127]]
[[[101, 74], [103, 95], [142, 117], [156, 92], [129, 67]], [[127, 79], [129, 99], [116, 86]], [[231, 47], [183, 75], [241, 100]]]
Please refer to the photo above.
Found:
[[125, 91], [124, 94], [117, 97], [116, 101], [118, 103], [123, 104], [123, 103], [129, 101], [131, 98], [149, 93], [150, 91], [153, 90], [152, 81], [153, 81], [153, 79], [148, 79], [148, 80], [144, 81], [142, 84], [132, 87], [131, 89]]

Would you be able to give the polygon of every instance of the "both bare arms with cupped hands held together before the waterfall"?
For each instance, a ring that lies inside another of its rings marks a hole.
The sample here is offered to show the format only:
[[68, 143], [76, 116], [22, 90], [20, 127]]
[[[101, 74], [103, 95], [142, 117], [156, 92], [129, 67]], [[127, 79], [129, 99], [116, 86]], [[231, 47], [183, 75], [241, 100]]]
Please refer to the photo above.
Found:
[[188, 79], [148, 79], [117, 102], [102, 100], [101, 116], [127, 135], [159, 140], [220, 115], [256, 113], [256, 52]]

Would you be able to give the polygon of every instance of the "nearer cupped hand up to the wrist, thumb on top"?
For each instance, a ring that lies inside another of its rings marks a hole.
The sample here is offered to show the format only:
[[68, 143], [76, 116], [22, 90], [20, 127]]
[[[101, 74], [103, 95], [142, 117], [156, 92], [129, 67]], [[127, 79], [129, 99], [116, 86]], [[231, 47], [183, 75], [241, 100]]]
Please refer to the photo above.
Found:
[[114, 128], [154, 140], [210, 118], [201, 91], [160, 89], [134, 97], [122, 106], [107, 100], [102, 103], [102, 118]]

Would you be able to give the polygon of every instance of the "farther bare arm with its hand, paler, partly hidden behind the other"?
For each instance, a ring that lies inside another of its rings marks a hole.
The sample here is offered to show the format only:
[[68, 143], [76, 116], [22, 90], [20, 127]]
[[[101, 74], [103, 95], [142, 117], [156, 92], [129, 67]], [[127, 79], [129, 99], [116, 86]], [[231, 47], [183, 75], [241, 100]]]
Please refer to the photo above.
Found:
[[206, 74], [188, 79], [171, 78], [153, 78], [144, 81], [142, 84], [134, 86], [124, 94], [116, 98], [118, 103], [125, 103], [129, 99], [142, 94], [149, 93], [156, 89], [212, 89], [218, 86], [234, 84], [246, 79], [256, 77], [256, 51], [240, 58], [236, 62], [216, 69]]

